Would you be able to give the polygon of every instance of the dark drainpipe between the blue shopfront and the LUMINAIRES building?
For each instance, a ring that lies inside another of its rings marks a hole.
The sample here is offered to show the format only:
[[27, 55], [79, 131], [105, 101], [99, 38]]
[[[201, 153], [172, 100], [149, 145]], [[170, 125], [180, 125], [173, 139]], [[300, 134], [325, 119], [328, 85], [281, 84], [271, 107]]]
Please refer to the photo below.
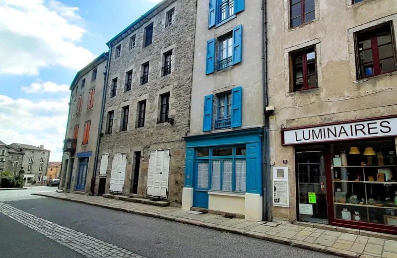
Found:
[[266, 107], [268, 105], [267, 96], [267, 16], [266, 16], [266, 0], [262, 2], [262, 93], [264, 106], [264, 132], [263, 132], [263, 170], [262, 170], [262, 185], [263, 185], [263, 220], [271, 221], [271, 199], [270, 199], [270, 173], [268, 166], [268, 137], [269, 137], [269, 120], [266, 114]]

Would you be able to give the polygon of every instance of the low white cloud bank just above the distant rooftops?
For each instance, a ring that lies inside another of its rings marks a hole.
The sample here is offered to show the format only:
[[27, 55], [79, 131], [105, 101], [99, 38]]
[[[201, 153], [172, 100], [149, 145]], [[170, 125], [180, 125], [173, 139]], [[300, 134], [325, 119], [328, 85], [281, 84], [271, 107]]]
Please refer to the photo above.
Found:
[[51, 150], [51, 160], [61, 161], [68, 98], [32, 102], [0, 95], [0, 140]]

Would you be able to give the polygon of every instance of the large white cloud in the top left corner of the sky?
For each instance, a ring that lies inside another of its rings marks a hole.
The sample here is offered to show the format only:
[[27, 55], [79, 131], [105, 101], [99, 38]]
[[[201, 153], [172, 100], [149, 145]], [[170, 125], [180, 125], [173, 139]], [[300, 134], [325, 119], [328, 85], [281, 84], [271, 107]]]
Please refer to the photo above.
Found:
[[61, 65], [79, 70], [95, 57], [78, 47], [84, 29], [77, 7], [58, 1], [0, 0], [0, 74], [37, 75]]

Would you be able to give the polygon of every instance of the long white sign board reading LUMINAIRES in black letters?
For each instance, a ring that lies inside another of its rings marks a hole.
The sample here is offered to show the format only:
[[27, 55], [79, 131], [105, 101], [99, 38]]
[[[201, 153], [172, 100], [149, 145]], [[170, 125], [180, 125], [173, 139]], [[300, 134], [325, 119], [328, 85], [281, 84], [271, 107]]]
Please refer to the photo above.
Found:
[[283, 145], [397, 135], [397, 118], [283, 131]]

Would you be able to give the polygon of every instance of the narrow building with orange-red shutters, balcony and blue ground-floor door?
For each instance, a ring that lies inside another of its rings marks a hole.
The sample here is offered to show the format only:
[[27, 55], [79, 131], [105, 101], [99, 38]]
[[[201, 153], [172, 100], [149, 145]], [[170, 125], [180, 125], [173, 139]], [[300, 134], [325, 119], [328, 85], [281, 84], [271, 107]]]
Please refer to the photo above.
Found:
[[102, 53], [77, 72], [70, 84], [69, 115], [60, 188], [88, 193], [94, 175], [96, 147], [108, 53]]

